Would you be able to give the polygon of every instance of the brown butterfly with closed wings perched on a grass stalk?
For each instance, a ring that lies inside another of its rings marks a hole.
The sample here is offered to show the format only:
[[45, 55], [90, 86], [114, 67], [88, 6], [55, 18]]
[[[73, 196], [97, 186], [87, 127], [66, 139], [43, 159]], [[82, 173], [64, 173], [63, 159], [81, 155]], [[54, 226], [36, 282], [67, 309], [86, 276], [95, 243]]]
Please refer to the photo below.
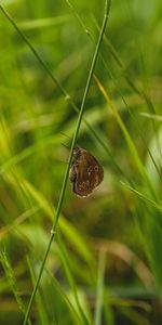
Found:
[[103, 167], [87, 151], [77, 145], [69, 171], [72, 191], [79, 197], [86, 197], [104, 179]]

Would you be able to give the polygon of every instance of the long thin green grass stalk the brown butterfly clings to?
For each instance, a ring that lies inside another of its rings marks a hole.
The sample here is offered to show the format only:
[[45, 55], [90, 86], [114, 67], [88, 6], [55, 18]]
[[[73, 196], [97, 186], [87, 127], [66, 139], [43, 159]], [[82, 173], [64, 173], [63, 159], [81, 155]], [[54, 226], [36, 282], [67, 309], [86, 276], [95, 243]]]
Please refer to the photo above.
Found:
[[95, 65], [96, 65], [96, 61], [97, 61], [97, 57], [98, 57], [98, 54], [99, 54], [99, 49], [100, 49], [100, 44], [102, 44], [102, 41], [103, 41], [104, 32], [105, 32], [105, 29], [106, 29], [108, 15], [109, 15], [109, 10], [110, 10], [110, 4], [111, 4], [111, 0], [109, 0], [109, 1], [106, 0], [103, 26], [100, 28], [98, 41], [97, 41], [96, 49], [95, 49], [95, 52], [94, 52], [94, 55], [93, 55], [93, 60], [92, 60], [92, 64], [91, 64], [91, 68], [90, 68], [90, 74], [89, 74], [89, 77], [87, 77], [87, 81], [86, 81], [86, 86], [85, 86], [85, 90], [84, 90], [84, 94], [83, 94], [83, 99], [82, 99], [82, 103], [81, 103], [81, 108], [80, 108], [78, 120], [77, 120], [76, 131], [75, 131], [75, 134], [73, 134], [71, 148], [70, 148], [70, 153], [69, 153], [69, 160], [68, 160], [68, 165], [67, 165], [67, 168], [66, 168], [66, 171], [65, 171], [63, 186], [62, 186], [59, 200], [58, 200], [58, 205], [57, 205], [57, 209], [56, 209], [55, 221], [54, 221], [53, 226], [52, 226], [49, 245], [48, 245], [48, 248], [46, 248], [43, 261], [42, 261], [42, 265], [41, 265], [40, 271], [39, 271], [38, 278], [37, 278], [36, 284], [35, 284], [33, 291], [31, 294], [31, 297], [30, 297], [30, 300], [29, 300], [29, 303], [28, 303], [28, 307], [27, 307], [27, 311], [26, 311], [26, 315], [25, 315], [23, 325], [27, 324], [27, 320], [28, 320], [28, 316], [29, 316], [29, 313], [30, 313], [30, 310], [31, 310], [31, 307], [32, 307], [32, 303], [33, 303], [33, 300], [35, 300], [36, 292], [37, 292], [38, 287], [39, 287], [39, 283], [40, 283], [40, 280], [41, 280], [41, 276], [42, 276], [42, 273], [43, 273], [43, 270], [44, 270], [44, 266], [45, 266], [45, 262], [46, 262], [50, 249], [51, 249], [51, 245], [52, 245], [53, 239], [54, 239], [55, 234], [56, 234], [58, 219], [59, 219], [59, 214], [60, 214], [60, 210], [62, 210], [62, 206], [63, 206], [63, 202], [64, 202], [64, 197], [65, 197], [65, 192], [66, 192], [66, 186], [67, 186], [67, 181], [68, 181], [68, 176], [69, 176], [69, 169], [70, 169], [70, 165], [71, 165], [71, 161], [72, 161], [73, 148], [75, 148], [75, 145], [76, 145], [76, 142], [77, 142], [77, 139], [78, 139], [78, 134], [79, 134], [79, 130], [80, 130], [80, 126], [81, 126], [81, 121], [82, 121], [82, 117], [83, 117], [83, 113], [84, 113], [84, 108], [85, 108], [86, 96], [87, 96], [87, 93], [89, 93], [91, 80], [92, 80], [92, 77], [93, 77], [93, 72], [94, 72], [94, 68], [95, 68]]

